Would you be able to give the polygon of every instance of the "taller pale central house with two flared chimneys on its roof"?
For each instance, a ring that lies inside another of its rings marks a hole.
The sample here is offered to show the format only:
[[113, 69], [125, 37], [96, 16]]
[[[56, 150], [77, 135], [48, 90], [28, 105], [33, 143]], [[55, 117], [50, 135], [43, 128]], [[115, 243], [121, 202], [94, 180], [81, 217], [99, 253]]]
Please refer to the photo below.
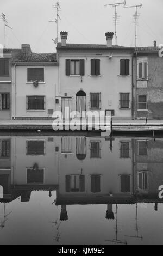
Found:
[[103, 111], [115, 119], [131, 119], [134, 49], [113, 46], [114, 33], [106, 33], [106, 45], [67, 44], [68, 33], [60, 34], [56, 109], [62, 117], [67, 119], [72, 111], [77, 111], [73, 118]]

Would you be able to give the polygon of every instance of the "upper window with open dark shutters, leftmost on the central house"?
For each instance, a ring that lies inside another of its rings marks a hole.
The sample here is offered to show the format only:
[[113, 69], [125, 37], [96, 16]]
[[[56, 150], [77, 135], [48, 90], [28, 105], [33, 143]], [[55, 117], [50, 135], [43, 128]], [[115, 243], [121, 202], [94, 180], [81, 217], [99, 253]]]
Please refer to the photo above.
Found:
[[66, 59], [66, 76], [84, 76], [85, 60], [84, 59]]

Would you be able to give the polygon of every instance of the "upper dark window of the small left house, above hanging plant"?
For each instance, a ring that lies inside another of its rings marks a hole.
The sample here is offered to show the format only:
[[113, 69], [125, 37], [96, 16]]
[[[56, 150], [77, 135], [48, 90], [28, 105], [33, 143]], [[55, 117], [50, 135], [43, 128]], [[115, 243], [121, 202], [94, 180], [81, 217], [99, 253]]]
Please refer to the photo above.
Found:
[[44, 68], [28, 68], [28, 82], [44, 82]]

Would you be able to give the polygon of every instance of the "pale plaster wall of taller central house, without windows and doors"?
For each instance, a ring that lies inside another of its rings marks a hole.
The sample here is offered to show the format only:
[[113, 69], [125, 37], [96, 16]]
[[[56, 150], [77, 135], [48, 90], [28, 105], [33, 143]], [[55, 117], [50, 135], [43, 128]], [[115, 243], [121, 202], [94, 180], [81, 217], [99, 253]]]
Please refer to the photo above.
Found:
[[[112, 58], [109, 59], [109, 56]], [[61, 110], [61, 97], [65, 95], [72, 97], [72, 110], [76, 111], [76, 94], [83, 90], [86, 93], [86, 111], [90, 111], [90, 93], [101, 93], [101, 111], [114, 110], [115, 119], [132, 118], [132, 56], [129, 52], [70, 52], [60, 53], [59, 58], [59, 77], [60, 89], [57, 97], [59, 104], [56, 106], [58, 111]], [[101, 75], [91, 76], [91, 59], [100, 59]], [[84, 76], [66, 76], [65, 63], [66, 59], [84, 59], [85, 75]], [[120, 76], [120, 60], [130, 60], [130, 76]], [[130, 93], [130, 108], [120, 109], [120, 93]], [[92, 111], [99, 111], [93, 109]]]

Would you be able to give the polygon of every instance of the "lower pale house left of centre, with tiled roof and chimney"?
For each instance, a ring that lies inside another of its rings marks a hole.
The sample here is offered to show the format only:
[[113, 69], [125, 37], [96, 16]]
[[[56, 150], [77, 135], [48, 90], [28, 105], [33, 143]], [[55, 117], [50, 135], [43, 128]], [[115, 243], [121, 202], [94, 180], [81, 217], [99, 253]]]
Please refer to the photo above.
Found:
[[22, 45], [21, 58], [12, 62], [12, 119], [49, 119], [55, 108], [58, 63], [55, 53], [32, 53]]

